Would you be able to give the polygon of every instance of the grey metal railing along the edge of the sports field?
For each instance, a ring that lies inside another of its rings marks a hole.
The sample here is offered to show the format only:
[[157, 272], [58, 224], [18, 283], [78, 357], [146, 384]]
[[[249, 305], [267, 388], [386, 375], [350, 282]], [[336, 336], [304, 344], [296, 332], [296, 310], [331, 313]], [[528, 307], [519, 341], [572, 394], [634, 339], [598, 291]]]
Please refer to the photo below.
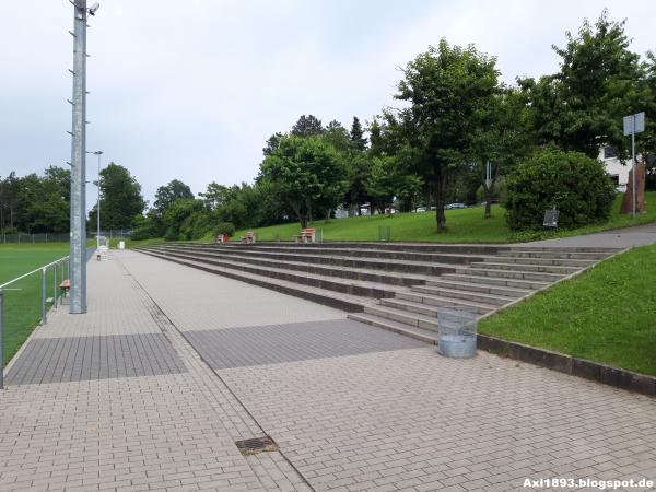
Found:
[[[87, 247], [87, 261], [94, 253], [95, 247]], [[4, 387], [5, 336], [11, 337], [17, 350], [33, 326], [46, 325], [48, 308], [63, 304], [66, 291], [60, 283], [69, 278], [70, 257], [65, 256], [0, 285], [0, 389]]]

